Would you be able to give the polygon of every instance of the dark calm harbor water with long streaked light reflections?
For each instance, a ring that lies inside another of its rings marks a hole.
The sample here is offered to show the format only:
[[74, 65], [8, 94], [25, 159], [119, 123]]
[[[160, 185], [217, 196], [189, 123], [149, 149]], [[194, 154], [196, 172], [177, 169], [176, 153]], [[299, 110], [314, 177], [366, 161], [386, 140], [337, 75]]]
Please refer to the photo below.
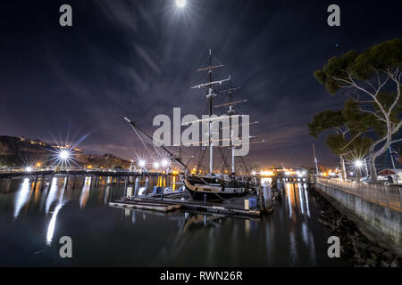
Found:
[[[90, 179], [33, 184], [0, 181], [0, 252], [16, 252], [0, 265], [345, 265], [326, 256], [331, 234], [316, 221], [306, 183], [286, 183], [273, 215], [261, 220], [112, 208], [123, 185], [94, 187]], [[71, 261], [58, 256], [63, 235], [73, 240]]]

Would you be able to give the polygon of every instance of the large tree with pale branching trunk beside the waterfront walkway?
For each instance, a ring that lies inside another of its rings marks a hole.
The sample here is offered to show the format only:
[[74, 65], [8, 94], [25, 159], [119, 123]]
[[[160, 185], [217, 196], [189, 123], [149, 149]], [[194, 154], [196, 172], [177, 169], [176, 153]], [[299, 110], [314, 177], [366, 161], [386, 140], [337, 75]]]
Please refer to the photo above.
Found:
[[[355, 148], [362, 147], [364, 151], [371, 137], [376, 136], [368, 151], [370, 170], [375, 181], [375, 159], [387, 151], [390, 144], [402, 141], [394, 137], [402, 126], [402, 38], [374, 45], [363, 53], [349, 51], [332, 57], [322, 69], [314, 71], [314, 77], [332, 95], [341, 88], [352, 92], [348, 92], [350, 98], [340, 111], [341, 115], [339, 111], [317, 114], [309, 125], [310, 134], [317, 136], [322, 130], [328, 129], [327, 125], [333, 123], [333, 127], [339, 128], [335, 125], [343, 123], [349, 134], [356, 134], [355, 141], [352, 139], [347, 143], [346, 133], [331, 134], [327, 144], [334, 152], [339, 152], [344, 143], [348, 147], [356, 144]], [[321, 121], [324, 118], [327, 122]]]

